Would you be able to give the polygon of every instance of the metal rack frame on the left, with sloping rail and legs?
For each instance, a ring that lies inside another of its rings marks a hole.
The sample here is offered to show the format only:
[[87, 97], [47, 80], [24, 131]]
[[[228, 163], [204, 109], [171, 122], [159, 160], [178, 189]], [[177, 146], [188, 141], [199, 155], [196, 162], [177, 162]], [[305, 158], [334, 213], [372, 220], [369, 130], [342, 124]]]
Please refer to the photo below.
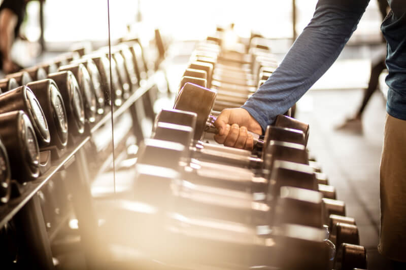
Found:
[[[155, 72], [155, 70], [154, 70]], [[40, 206], [40, 200], [37, 196], [38, 192], [46, 186], [50, 181], [65, 181], [70, 188], [72, 194], [71, 203], [77, 220], [80, 223], [81, 245], [85, 252], [87, 265], [92, 268], [92, 265], [97, 264], [95, 254], [98, 252], [94, 249], [98, 248], [97, 235], [97, 218], [92, 206], [92, 198], [90, 192], [89, 166], [88, 158], [86, 157], [86, 147], [91, 143], [94, 136], [104, 125], [110, 125], [111, 118], [117, 120], [123, 113], [131, 114], [133, 128], [132, 133], [137, 137], [137, 141], [143, 139], [141, 132], [141, 115], [137, 115], [134, 104], [138, 101], [144, 103], [145, 115], [149, 118], [154, 117], [153, 108], [148, 104], [151, 100], [151, 89], [154, 89], [155, 75], [149, 74], [148, 79], [137, 88], [119, 107], [114, 109], [114, 112], [107, 110], [104, 115], [97, 117], [95, 123], [89, 124], [86, 128], [87, 132], [83, 136], [77, 137], [73, 146], [64, 149], [64, 154], [57, 160], [53, 160], [48, 170], [34, 181], [18, 184], [12, 180], [12, 198], [4, 205], [0, 205], [0, 228], [4, 227], [9, 221], [13, 220], [16, 233], [18, 234], [19, 255], [23, 258], [22, 267], [30, 267], [35, 269], [53, 269], [53, 256], [51, 252], [51, 243], [55, 239], [59, 230], [66, 224], [72, 213], [69, 210], [61, 214], [59, 224], [52, 226], [48, 232], [44, 222], [43, 210]], [[154, 95], [154, 94], [152, 94]], [[145, 104], [147, 103], [147, 104]], [[125, 136], [123, 139], [125, 140]], [[116, 146], [125, 142], [115, 141]], [[111, 144], [111, 142], [110, 142]], [[120, 147], [116, 147], [117, 150]], [[113, 151], [112, 145], [107, 149], [102, 156], [111, 155]], [[99, 169], [99, 168], [98, 168]], [[69, 177], [62, 179], [60, 174]], [[95, 172], [97, 174], [98, 172]], [[112, 179], [113, 182], [113, 179]], [[20, 260], [21, 261], [21, 260]], [[0, 262], [1, 263], [1, 262]]]

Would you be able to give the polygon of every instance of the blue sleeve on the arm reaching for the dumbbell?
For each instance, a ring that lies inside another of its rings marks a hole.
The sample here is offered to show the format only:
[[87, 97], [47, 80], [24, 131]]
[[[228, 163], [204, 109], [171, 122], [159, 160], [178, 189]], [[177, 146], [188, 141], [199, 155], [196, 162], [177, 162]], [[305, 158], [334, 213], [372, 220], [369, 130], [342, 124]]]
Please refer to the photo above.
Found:
[[319, 0], [280, 66], [242, 106], [262, 129], [286, 112], [340, 55], [369, 0]]

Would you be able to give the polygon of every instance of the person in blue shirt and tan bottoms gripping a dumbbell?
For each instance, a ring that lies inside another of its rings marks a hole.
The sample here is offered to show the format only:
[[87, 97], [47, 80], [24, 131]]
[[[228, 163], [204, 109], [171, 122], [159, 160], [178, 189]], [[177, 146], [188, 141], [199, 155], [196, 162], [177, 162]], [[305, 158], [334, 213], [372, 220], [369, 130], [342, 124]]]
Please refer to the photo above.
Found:
[[[280, 66], [241, 108], [223, 110], [215, 140], [251, 149], [247, 130], [263, 133], [287, 111], [340, 55], [368, 0], [319, 0], [312, 20]], [[387, 41], [389, 86], [380, 166], [381, 229], [379, 252], [395, 268], [406, 269], [406, 2], [388, 0], [381, 30]]]

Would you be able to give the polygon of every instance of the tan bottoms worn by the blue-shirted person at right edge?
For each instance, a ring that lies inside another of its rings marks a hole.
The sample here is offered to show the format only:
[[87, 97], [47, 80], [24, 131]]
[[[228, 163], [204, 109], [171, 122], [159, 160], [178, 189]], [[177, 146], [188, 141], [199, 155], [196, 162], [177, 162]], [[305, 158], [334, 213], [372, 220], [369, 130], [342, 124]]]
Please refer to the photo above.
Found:
[[406, 121], [386, 115], [380, 169], [381, 234], [385, 257], [406, 262]]

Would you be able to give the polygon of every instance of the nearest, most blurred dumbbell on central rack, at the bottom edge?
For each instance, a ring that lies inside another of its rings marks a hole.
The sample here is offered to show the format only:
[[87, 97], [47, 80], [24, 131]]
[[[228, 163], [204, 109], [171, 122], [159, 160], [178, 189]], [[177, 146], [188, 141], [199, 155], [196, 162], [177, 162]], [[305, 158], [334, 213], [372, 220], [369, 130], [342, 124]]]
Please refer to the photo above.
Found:
[[[166, 205], [171, 206], [170, 203]], [[278, 256], [283, 252], [278, 250], [280, 246], [290, 247], [291, 264], [306, 269], [310, 269], [310, 265], [312, 269], [327, 269], [330, 259], [330, 248], [324, 244], [324, 232], [317, 228], [292, 225], [289, 229], [282, 227], [270, 234], [266, 226], [255, 228], [241, 223], [187, 216], [138, 202], [123, 200], [109, 207], [115, 215], [109, 231], [132, 232], [112, 236], [115, 241], [135, 245], [163, 261], [188, 261], [189, 265], [194, 262], [200, 267], [208, 262], [212, 267], [282, 266], [285, 257]], [[135, 222], [137, 220], [139, 222]], [[151, 238], [156, 241], [152, 243]], [[168, 243], [171, 243], [171, 248]], [[313, 259], [314, 254], [318, 254], [318, 260]]]

